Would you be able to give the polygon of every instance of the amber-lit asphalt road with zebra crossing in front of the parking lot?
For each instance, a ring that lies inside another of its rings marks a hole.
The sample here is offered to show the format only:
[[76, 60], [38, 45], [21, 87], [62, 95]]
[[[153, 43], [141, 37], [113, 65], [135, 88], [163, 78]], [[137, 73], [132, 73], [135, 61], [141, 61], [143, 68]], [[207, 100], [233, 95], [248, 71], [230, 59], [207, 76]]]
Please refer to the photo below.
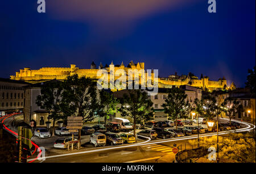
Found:
[[[13, 117], [13, 116], [12, 116]], [[14, 118], [8, 118], [5, 120], [5, 125], [9, 128], [11, 122]], [[16, 116], [17, 119], [20, 115]], [[222, 119], [221, 121], [227, 122], [226, 119]], [[247, 128], [243, 129], [242, 131], [249, 130], [250, 125], [244, 125]], [[14, 128], [11, 128], [14, 129]], [[220, 132], [220, 134], [227, 133]], [[212, 134], [200, 134], [200, 136], [212, 136], [216, 135], [216, 133]], [[55, 138], [59, 138], [55, 136]], [[182, 146], [183, 148], [189, 148], [188, 139], [197, 138], [197, 134], [192, 136], [184, 136], [181, 138], [172, 138], [172, 139], [156, 139], [156, 140], [148, 140], [143, 138], [141, 140], [142, 144], [132, 144], [127, 145], [124, 144], [123, 146], [108, 146], [108, 147], [87, 147], [84, 149], [74, 150], [74, 151], [67, 151], [61, 150], [59, 152], [46, 153], [46, 160], [36, 160], [36, 162], [44, 162], [44, 163], [134, 163], [134, 162], [156, 162], [159, 158], [164, 155], [173, 155], [172, 148], [176, 143], [177, 146]], [[87, 138], [84, 138], [87, 139]], [[40, 139], [44, 142], [45, 145], [53, 146], [52, 139]], [[36, 142], [36, 139], [34, 140]], [[39, 146], [41, 144], [39, 143]]]

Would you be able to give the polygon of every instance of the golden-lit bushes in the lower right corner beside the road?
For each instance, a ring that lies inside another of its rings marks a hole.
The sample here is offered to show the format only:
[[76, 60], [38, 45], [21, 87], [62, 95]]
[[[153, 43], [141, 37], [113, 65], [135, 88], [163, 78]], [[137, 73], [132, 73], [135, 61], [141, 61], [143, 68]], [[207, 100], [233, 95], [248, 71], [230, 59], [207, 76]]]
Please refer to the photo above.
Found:
[[[195, 139], [188, 140], [188, 142], [193, 146], [197, 144]], [[200, 138], [200, 144], [205, 150], [209, 147], [215, 147], [217, 150], [217, 136]], [[220, 158], [241, 163], [255, 163], [255, 135], [250, 132], [219, 136], [218, 146]]]

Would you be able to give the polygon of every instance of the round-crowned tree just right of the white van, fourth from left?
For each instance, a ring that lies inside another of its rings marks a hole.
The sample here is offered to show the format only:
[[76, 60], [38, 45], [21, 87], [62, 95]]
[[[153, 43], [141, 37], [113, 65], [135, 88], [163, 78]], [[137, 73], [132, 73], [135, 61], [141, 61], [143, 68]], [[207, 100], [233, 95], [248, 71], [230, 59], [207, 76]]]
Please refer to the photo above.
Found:
[[136, 123], [142, 120], [149, 120], [154, 115], [153, 103], [147, 96], [146, 92], [142, 92], [141, 89], [127, 90], [127, 93], [123, 94], [121, 99], [121, 112], [122, 117], [128, 116], [133, 118], [133, 134], [136, 138]]

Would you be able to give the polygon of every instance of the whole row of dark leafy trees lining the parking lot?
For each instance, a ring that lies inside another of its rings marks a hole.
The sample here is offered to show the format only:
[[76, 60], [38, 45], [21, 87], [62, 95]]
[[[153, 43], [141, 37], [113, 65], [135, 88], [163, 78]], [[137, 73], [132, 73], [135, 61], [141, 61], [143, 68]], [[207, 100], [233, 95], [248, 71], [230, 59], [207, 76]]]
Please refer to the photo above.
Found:
[[[234, 114], [242, 111], [242, 105], [230, 97], [221, 105], [218, 105], [216, 98], [210, 95], [203, 97], [202, 100], [196, 99], [192, 104], [186, 101], [186, 98], [187, 94], [184, 90], [171, 88], [162, 105], [164, 113], [168, 114], [176, 125], [177, 119], [187, 118], [192, 111], [208, 119], [225, 112], [230, 122]], [[117, 107], [118, 103], [121, 104], [120, 107]], [[103, 117], [106, 126], [110, 115], [120, 112], [123, 117], [133, 118], [135, 136], [135, 125], [144, 123], [154, 116], [153, 103], [147, 93], [141, 89], [127, 90], [127, 93], [118, 100], [111, 92], [100, 90], [98, 93], [92, 79], [79, 78], [77, 74], [69, 76], [65, 81], [45, 82], [36, 104], [49, 113], [49, 119], [53, 121], [52, 135], [54, 135], [55, 122], [59, 119], [66, 120], [69, 116], [80, 116], [85, 123], [96, 117]], [[80, 136], [79, 131], [79, 139]]]

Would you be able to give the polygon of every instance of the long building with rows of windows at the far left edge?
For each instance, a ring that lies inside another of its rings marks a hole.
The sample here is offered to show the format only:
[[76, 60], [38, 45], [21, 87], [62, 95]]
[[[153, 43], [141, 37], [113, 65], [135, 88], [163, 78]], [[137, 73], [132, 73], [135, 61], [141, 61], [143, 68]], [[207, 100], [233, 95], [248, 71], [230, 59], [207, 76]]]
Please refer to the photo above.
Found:
[[24, 107], [24, 87], [27, 82], [0, 78], [0, 111], [18, 112]]

